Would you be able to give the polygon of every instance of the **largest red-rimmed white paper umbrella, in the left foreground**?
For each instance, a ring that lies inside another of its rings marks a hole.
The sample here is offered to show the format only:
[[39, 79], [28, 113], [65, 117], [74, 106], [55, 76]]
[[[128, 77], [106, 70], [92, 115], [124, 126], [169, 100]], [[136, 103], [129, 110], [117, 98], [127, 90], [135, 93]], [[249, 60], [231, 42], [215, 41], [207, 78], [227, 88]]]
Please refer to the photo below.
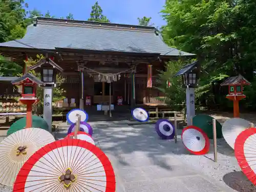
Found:
[[80, 139], [52, 142], [32, 155], [20, 169], [13, 191], [105, 191], [116, 189], [108, 157]]

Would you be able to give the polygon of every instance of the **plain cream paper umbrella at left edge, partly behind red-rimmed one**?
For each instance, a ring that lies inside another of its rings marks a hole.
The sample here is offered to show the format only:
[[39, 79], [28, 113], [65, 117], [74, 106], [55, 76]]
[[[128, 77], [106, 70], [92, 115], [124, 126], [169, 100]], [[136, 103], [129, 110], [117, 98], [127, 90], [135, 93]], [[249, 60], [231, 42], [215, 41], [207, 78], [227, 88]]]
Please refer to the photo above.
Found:
[[0, 143], [0, 183], [12, 186], [18, 170], [39, 148], [55, 141], [45, 130], [27, 128], [19, 130]]

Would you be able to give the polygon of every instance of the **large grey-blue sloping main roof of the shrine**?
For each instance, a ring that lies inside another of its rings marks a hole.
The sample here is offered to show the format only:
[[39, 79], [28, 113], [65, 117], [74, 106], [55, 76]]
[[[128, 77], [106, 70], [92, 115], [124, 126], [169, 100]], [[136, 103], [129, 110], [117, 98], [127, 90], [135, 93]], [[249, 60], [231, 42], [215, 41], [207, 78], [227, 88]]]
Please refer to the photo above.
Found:
[[[0, 47], [55, 49], [71, 48], [95, 51], [159, 53], [192, 56], [168, 47], [154, 27], [106, 24], [77, 20], [37, 17], [24, 38], [8, 41]], [[20, 43], [21, 42], [21, 43]]]

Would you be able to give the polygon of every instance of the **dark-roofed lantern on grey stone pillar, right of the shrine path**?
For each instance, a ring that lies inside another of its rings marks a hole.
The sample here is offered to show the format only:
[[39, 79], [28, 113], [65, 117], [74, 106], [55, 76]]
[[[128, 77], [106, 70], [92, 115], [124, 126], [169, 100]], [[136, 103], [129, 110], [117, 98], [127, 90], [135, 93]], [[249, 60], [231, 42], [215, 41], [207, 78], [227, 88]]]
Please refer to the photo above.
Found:
[[182, 84], [186, 88], [186, 116], [187, 125], [192, 125], [191, 119], [196, 115], [195, 88], [198, 86], [199, 74], [201, 73], [199, 61], [196, 60], [181, 68], [177, 76], [182, 77]]

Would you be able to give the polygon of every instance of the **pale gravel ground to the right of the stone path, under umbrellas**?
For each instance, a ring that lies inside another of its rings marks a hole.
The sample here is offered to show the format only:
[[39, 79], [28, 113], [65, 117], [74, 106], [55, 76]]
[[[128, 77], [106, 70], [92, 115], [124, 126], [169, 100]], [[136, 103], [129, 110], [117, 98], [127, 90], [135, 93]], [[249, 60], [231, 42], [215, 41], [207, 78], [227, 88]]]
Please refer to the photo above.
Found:
[[[151, 130], [155, 133], [154, 125], [136, 125], [145, 126], [145, 129]], [[134, 126], [134, 127], [136, 127]], [[149, 136], [152, 139], [156, 136]], [[212, 179], [221, 181], [223, 184], [234, 189], [238, 192], [256, 192], [256, 186], [254, 186], [246, 176], [241, 172], [241, 168], [238, 165], [236, 157], [234, 157], [233, 149], [222, 139], [217, 141], [218, 161], [214, 162], [214, 147], [213, 140], [210, 140], [210, 151], [206, 155], [196, 156], [191, 155], [184, 148], [181, 141], [181, 130], [178, 130], [178, 142], [174, 140], [168, 140], [161, 142], [161, 145], [165, 147], [171, 147], [175, 158], [180, 159], [183, 163], [191, 166], [198, 172], [202, 172], [212, 177]]]

